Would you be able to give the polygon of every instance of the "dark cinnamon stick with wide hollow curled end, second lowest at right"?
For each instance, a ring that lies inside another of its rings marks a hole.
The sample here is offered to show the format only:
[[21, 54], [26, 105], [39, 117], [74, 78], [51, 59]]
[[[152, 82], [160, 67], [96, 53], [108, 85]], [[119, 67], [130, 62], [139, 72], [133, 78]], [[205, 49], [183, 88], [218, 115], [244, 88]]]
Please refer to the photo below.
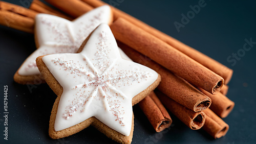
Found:
[[163, 105], [177, 116], [185, 125], [192, 130], [198, 130], [203, 127], [205, 122], [205, 114], [202, 111], [194, 112], [180, 105], [174, 100], [168, 98], [160, 91], [155, 91], [159, 100]]

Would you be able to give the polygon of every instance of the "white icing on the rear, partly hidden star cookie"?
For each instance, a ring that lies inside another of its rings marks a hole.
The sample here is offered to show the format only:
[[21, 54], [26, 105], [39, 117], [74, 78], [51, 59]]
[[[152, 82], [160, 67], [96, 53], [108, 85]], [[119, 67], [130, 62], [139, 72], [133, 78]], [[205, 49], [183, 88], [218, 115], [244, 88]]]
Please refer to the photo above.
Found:
[[109, 23], [110, 19], [109, 6], [98, 7], [73, 21], [54, 15], [38, 14], [35, 18], [35, 31], [39, 48], [25, 60], [18, 74], [39, 75], [35, 62], [38, 56], [76, 53], [87, 36], [100, 23]]

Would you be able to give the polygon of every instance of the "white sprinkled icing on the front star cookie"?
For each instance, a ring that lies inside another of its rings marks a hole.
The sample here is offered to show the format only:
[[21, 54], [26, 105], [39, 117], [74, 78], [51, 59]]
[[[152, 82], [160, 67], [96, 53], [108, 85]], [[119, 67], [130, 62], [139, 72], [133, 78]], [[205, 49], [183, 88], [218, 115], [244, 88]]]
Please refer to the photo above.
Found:
[[102, 24], [92, 33], [81, 53], [42, 58], [63, 87], [55, 131], [95, 116], [117, 132], [130, 135], [132, 99], [154, 83], [158, 74], [122, 59], [120, 53], [109, 26]]

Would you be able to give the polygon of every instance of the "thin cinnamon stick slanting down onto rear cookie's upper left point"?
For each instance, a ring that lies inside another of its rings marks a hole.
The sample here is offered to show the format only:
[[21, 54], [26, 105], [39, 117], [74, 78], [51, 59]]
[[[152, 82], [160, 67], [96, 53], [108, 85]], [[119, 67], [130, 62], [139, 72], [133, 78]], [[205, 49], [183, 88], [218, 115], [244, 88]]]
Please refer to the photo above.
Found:
[[36, 12], [39, 12], [39, 13], [46, 13], [46, 14], [51, 14], [51, 15], [55, 15], [55, 16], [59, 16], [59, 17], [62, 17], [62, 18], [66, 18], [68, 20], [72, 20], [73, 18], [65, 15], [65, 14], [62, 14], [60, 13], [59, 11], [57, 10], [54, 10], [53, 8], [47, 6], [46, 4], [40, 2], [39, 0], [34, 0], [29, 9], [31, 10], [34, 10]]

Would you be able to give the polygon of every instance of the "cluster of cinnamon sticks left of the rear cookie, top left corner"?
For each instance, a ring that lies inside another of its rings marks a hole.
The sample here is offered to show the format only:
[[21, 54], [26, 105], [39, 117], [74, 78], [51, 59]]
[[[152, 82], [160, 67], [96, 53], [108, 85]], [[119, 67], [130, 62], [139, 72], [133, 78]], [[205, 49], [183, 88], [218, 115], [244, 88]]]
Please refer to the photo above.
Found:
[[0, 1], [0, 25], [6, 27], [34, 33], [35, 16], [38, 13], [52, 14], [69, 20], [73, 19], [39, 0], [34, 0], [29, 9]]

